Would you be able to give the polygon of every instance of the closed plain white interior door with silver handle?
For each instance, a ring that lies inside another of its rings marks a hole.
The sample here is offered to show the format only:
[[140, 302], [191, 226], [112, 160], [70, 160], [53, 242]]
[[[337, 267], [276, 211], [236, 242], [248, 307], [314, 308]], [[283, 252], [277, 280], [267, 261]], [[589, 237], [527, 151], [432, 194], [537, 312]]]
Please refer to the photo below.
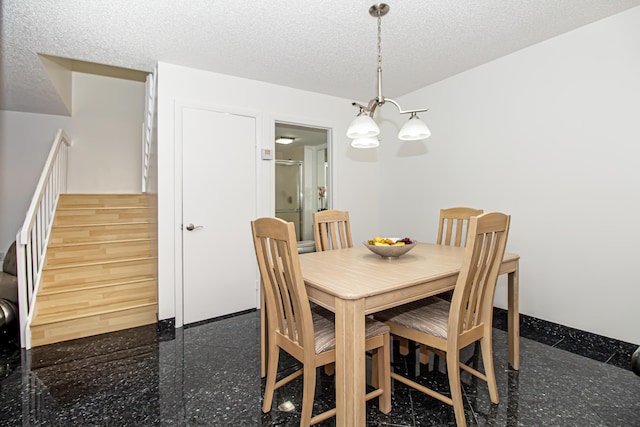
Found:
[[256, 119], [182, 110], [184, 324], [256, 306]]

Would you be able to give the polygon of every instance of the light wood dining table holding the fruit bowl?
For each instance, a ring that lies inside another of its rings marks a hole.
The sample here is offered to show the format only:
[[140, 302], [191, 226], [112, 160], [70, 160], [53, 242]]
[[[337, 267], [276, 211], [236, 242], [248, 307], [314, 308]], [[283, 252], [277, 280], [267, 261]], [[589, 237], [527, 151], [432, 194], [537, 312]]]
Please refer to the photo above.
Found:
[[[451, 290], [464, 248], [418, 243], [398, 259], [383, 259], [364, 246], [300, 256], [309, 299], [335, 313], [336, 425], [366, 425], [365, 316]], [[509, 363], [519, 369], [518, 263], [506, 253]]]

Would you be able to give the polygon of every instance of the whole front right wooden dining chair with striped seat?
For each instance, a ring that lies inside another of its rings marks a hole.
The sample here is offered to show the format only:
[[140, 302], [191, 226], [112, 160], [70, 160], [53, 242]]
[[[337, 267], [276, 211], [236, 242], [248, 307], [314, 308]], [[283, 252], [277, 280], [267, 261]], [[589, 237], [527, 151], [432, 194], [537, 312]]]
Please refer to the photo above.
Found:
[[[451, 302], [438, 297], [415, 301], [375, 315], [400, 336], [444, 353], [451, 397], [395, 372], [391, 378], [453, 406], [456, 424], [465, 426], [460, 369], [487, 382], [493, 403], [499, 402], [493, 367], [493, 297], [509, 232], [510, 216], [489, 212], [471, 218], [464, 261]], [[461, 363], [460, 350], [480, 342], [484, 373]]]

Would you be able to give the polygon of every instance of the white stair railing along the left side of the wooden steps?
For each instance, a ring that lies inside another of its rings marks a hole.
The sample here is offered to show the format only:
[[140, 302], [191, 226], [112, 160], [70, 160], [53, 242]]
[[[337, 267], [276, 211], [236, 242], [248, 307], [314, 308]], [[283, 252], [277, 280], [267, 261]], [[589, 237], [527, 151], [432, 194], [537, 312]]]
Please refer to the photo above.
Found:
[[62, 129], [53, 140], [22, 228], [16, 235], [20, 343], [31, 348], [30, 327], [44, 257], [60, 194], [67, 190], [67, 150], [71, 140]]

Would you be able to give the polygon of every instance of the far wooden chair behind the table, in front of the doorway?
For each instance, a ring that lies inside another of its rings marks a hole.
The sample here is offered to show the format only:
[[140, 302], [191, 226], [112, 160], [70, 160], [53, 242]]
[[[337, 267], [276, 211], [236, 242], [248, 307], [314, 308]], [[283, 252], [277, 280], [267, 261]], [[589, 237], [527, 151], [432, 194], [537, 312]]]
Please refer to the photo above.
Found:
[[313, 235], [316, 252], [352, 248], [349, 212], [325, 210], [313, 213]]

